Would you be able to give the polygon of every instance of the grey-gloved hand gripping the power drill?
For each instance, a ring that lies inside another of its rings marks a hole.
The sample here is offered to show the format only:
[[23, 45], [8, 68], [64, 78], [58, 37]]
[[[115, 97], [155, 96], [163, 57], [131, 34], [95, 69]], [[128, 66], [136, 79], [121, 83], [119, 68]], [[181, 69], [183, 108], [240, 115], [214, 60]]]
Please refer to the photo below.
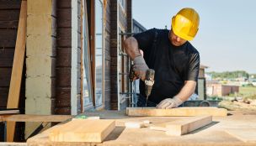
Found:
[[138, 78], [140, 78], [142, 81], [145, 81], [146, 71], [148, 70], [148, 67], [144, 58], [141, 55], [139, 55], [133, 60], [133, 62], [134, 62], [133, 70], [135, 72], [135, 75]]

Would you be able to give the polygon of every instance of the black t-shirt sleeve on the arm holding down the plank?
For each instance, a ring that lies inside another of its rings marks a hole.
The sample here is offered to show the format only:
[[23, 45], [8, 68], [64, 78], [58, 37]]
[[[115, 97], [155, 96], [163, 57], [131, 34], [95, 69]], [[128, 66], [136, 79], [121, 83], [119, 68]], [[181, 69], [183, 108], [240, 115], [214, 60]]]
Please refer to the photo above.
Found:
[[189, 72], [187, 81], [197, 81], [200, 70], [200, 55], [199, 53], [192, 54], [189, 60]]

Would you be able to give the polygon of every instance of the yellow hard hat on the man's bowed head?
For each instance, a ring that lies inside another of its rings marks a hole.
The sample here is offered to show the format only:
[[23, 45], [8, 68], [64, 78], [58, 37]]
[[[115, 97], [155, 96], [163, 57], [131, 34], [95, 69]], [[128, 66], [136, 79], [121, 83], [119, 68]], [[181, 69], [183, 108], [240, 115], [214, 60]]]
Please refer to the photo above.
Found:
[[182, 39], [192, 40], [199, 27], [199, 14], [193, 8], [183, 8], [172, 18], [173, 33]]

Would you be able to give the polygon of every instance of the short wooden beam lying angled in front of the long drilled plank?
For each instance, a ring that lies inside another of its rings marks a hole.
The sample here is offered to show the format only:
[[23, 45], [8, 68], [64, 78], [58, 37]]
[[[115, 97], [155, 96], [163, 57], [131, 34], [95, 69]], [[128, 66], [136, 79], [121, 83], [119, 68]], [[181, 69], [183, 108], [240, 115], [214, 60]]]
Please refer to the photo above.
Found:
[[187, 117], [186, 119], [163, 123], [150, 127], [153, 130], [165, 131], [167, 135], [181, 136], [212, 123], [211, 116]]

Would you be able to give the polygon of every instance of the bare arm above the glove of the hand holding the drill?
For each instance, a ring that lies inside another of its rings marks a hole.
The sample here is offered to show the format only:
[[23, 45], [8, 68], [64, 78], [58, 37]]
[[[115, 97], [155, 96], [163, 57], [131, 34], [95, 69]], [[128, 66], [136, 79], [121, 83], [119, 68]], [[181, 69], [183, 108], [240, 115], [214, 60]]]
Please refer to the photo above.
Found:
[[137, 40], [134, 37], [129, 37], [128, 39], [125, 39], [125, 52], [131, 60], [134, 60], [137, 56], [140, 56], [140, 50]]

